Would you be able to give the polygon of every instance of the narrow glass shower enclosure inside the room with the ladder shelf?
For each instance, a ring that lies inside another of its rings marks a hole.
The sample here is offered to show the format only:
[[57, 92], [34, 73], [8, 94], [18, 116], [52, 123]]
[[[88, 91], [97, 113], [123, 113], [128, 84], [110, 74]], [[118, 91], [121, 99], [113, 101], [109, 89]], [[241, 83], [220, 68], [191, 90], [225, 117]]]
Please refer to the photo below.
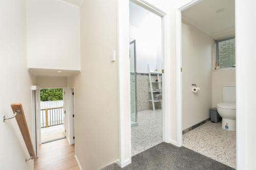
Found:
[[138, 125], [136, 85], [136, 43], [130, 42], [131, 126]]

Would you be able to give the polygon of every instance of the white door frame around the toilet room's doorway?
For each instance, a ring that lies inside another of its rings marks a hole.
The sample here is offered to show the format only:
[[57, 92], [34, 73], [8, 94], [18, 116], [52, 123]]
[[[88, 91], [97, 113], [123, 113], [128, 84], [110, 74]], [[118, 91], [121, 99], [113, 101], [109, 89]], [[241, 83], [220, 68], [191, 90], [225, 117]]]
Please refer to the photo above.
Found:
[[[181, 31], [181, 23], [182, 23], [182, 15], [181, 12], [200, 3], [201, 1], [204, 0], [191, 0], [186, 4], [183, 4], [181, 6], [178, 6], [175, 10], [175, 14], [176, 14], [176, 103], [177, 103], [177, 136], [179, 136], [178, 140], [180, 142], [180, 146], [182, 146], [182, 44], [181, 44], [181, 39], [182, 39], [182, 31]], [[237, 1], [237, 0], [236, 0]], [[236, 9], [236, 7], [235, 7]], [[237, 17], [236, 17], [237, 20]], [[237, 28], [237, 21], [235, 22], [235, 27]], [[237, 32], [235, 33], [236, 37], [237, 37]], [[236, 54], [237, 54], [237, 48], [238, 48], [238, 39], [236, 38]], [[236, 62], [237, 62], [237, 55], [236, 55]], [[238, 65], [238, 63], [236, 63], [236, 65]], [[236, 68], [237, 70], [237, 68]], [[237, 71], [236, 71], [237, 72]], [[237, 73], [236, 73], [237, 74]], [[237, 85], [237, 76], [236, 76], [236, 85]], [[238, 89], [236, 88], [236, 93], [238, 93]], [[237, 105], [238, 104], [238, 96], [237, 96]], [[236, 113], [237, 116], [237, 131], [236, 131], [236, 138], [237, 138], [237, 168], [242, 168], [245, 167], [244, 165], [244, 148], [241, 147], [244, 146], [242, 143], [244, 143], [243, 138], [239, 138], [240, 136], [240, 130], [239, 129], [243, 129], [244, 127], [244, 122], [242, 122], [242, 120], [238, 119], [238, 117], [242, 117], [241, 113], [238, 112]], [[242, 131], [242, 130], [241, 130]], [[242, 153], [241, 155], [238, 153]]]

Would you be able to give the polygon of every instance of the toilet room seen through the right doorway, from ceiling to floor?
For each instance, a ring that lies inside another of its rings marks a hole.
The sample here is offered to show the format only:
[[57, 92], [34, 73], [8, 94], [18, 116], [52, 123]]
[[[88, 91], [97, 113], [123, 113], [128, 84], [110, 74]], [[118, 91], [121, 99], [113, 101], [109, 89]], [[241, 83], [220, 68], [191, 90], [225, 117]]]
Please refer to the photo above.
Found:
[[[183, 146], [232, 168], [236, 168], [234, 18], [234, 0], [203, 0], [182, 11], [181, 24]], [[214, 119], [210, 115], [218, 116], [217, 110], [220, 117]]]

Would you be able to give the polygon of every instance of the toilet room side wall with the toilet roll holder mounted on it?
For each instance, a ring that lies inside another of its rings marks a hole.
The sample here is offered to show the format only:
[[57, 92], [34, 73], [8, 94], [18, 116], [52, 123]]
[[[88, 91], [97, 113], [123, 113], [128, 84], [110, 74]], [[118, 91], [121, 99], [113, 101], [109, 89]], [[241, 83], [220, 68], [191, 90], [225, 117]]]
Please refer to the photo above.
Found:
[[[209, 118], [211, 108], [211, 37], [182, 23], [183, 130]], [[191, 84], [201, 89], [193, 93]]]

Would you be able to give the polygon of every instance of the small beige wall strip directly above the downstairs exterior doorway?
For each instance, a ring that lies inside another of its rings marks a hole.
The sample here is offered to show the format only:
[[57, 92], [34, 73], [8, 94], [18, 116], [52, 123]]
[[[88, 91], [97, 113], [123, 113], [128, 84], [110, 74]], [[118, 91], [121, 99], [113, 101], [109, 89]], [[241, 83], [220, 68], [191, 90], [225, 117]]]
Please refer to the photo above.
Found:
[[37, 76], [36, 86], [39, 87], [67, 87], [67, 77]]

